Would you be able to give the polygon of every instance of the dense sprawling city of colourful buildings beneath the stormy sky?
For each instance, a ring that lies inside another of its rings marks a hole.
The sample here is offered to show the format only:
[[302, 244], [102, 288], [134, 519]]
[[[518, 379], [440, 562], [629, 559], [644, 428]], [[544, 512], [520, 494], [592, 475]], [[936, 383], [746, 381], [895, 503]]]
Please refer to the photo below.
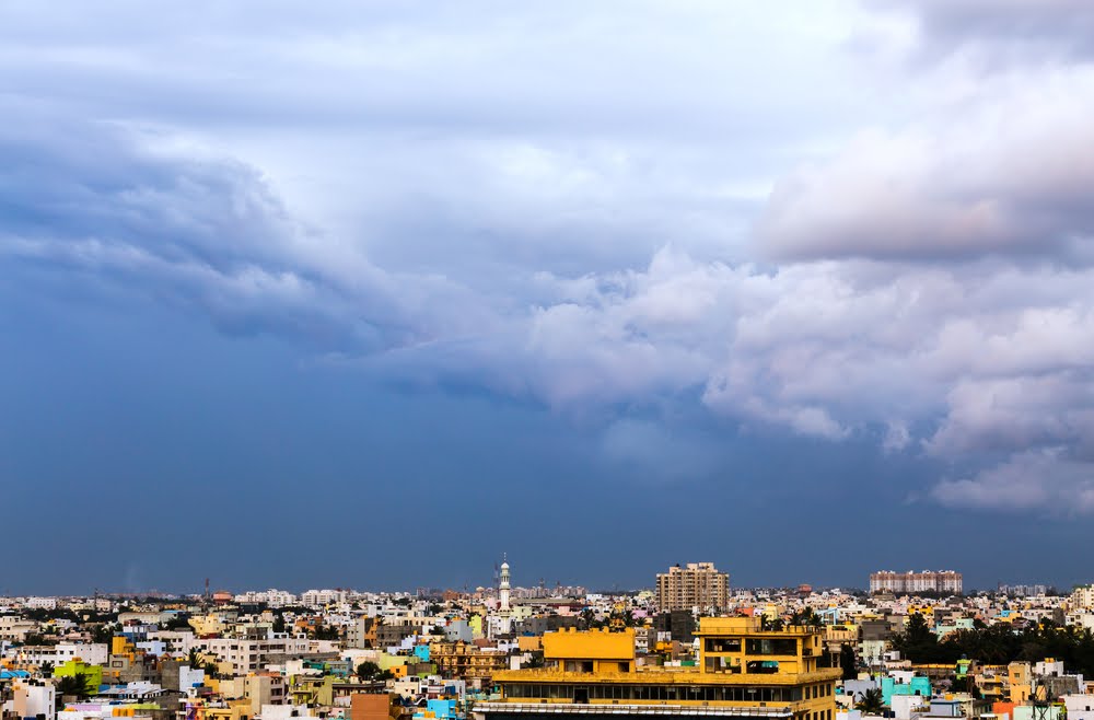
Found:
[[738, 589], [701, 561], [604, 593], [514, 573], [502, 557], [468, 591], [0, 597], [3, 717], [1094, 718], [1094, 584]]

